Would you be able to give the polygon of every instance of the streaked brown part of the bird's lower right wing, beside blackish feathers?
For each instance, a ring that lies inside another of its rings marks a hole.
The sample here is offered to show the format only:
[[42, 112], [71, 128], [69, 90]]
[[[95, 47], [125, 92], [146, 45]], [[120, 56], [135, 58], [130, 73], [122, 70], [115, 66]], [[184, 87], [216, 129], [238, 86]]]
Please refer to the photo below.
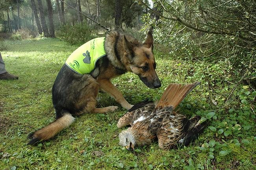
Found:
[[184, 124], [186, 125], [187, 121], [184, 115], [169, 114], [157, 132], [159, 147], [164, 150], [173, 148], [183, 137]]

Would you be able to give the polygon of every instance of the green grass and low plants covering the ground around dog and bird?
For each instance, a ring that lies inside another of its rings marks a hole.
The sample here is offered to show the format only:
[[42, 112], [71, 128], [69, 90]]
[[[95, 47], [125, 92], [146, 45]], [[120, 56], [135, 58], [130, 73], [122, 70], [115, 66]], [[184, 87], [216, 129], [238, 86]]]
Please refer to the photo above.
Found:
[[[209, 127], [188, 147], [163, 151], [157, 142], [128, 152], [119, 146], [117, 120], [126, 112], [106, 93], [98, 107], [118, 105], [108, 114], [86, 114], [56, 137], [28, 146], [28, 133], [54, 120], [51, 88], [65, 59], [78, 46], [58, 39], [5, 41], [1, 54], [19, 80], [0, 80], [0, 169], [241, 169], [256, 168], [255, 96], [226, 63], [179, 61], [156, 50], [159, 89], [148, 89], [128, 73], [113, 79], [129, 103], [159, 99], [169, 83], [202, 81], [180, 104], [180, 113], [209, 119]], [[208, 66], [206, 69], [206, 65]], [[129, 82], [129, 83], [128, 83]]]

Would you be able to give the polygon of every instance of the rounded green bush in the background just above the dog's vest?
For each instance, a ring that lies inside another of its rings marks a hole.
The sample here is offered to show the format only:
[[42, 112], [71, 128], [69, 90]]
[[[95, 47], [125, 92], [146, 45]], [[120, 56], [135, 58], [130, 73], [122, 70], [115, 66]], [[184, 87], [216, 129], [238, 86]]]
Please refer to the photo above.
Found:
[[56, 33], [57, 37], [69, 44], [84, 44], [85, 42], [95, 38], [93, 29], [85, 23], [76, 24], [74, 26], [61, 26]]

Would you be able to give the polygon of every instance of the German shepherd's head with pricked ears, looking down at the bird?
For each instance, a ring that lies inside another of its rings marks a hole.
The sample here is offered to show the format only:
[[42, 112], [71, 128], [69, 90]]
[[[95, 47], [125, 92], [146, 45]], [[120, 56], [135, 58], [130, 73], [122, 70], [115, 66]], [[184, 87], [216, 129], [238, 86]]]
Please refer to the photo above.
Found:
[[149, 31], [145, 42], [136, 45], [123, 37], [124, 63], [126, 69], [139, 76], [139, 79], [151, 89], [161, 87], [156, 74], [156, 61], [153, 54], [153, 36]]

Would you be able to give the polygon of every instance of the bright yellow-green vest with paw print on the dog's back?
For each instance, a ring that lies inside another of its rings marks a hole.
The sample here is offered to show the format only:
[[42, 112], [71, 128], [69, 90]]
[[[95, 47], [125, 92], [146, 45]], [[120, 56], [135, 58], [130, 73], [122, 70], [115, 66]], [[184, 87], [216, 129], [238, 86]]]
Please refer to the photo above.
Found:
[[69, 55], [65, 64], [78, 74], [90, 73], [101, 57], [106, 56], [104, 50], [105, 37], [92, 39]]

